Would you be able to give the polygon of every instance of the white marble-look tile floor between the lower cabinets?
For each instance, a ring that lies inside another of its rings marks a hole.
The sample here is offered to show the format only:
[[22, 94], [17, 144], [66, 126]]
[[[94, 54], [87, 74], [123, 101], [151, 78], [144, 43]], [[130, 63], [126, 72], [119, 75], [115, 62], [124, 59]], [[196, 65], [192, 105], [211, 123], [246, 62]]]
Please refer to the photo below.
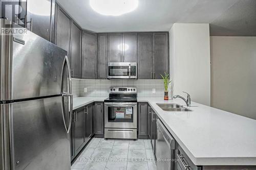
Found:
[[156, 164], [150, 140], [93, 138], [71, 169], [155, 170]]

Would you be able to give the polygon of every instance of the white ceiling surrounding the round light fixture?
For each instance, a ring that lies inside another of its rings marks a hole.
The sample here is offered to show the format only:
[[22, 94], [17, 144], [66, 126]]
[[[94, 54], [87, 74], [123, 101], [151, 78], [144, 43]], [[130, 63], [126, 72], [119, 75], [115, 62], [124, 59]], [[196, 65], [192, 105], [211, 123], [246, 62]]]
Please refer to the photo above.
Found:
[[[91, 9], [89, 0], [57, 0], [57, 2], [83, 29], [97, 33], [169, 31], [175, 22], [214, 23], [211, 32], [215, 35], [221, 33], [223, 29], [227, 33], [233, 25], [239, 27], [240, 31], [246, 29], [248, 25], [252, 28], [254, 24], [256, 26], [256, 0], [139, 0], [139, 6], [135, 11], [121, 16], [100, 15]], [[239, 13], [235, 17], [229, 16], [237, 11]], [[241, 16], [241, 13], [247, 14]], [[249, 17], [249, 19], [241, 17]], [[230, 19], [229, 23], [227, 19]], [[241, 22], [238, 26], [234, 23], [241, 19], [244, 19], [247, 25]], [[246, 34], [246, 31], [244, 32], [243, 34]], [[254, 32], [256, 35], [256, 29], [247, 32], [250, 34]]]

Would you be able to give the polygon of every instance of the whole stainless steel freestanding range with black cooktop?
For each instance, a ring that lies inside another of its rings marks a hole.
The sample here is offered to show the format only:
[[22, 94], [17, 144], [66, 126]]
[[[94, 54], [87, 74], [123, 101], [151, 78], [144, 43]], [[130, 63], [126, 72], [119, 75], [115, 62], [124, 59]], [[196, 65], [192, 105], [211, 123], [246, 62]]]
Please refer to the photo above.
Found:
[[137, 88], [111, 87], [104, 100], [104, 138], [137, 139]]

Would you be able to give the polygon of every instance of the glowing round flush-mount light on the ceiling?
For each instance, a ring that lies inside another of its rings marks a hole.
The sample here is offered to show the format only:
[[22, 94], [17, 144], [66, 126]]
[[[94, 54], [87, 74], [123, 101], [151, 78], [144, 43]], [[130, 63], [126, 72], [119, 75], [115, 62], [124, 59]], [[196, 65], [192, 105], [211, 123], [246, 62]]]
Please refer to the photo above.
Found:
[[135, 10], [138, 0], [90, 0], [94, 11], [101, 15], [119, 16]]

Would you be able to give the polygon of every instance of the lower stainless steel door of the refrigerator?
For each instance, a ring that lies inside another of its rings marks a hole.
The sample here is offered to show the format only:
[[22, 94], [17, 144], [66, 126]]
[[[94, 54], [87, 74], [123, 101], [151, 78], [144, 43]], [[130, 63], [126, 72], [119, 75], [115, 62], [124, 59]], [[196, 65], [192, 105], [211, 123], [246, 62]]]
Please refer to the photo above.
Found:
[[71, 169], [62, 98], [10, 104], [14, 169]]

